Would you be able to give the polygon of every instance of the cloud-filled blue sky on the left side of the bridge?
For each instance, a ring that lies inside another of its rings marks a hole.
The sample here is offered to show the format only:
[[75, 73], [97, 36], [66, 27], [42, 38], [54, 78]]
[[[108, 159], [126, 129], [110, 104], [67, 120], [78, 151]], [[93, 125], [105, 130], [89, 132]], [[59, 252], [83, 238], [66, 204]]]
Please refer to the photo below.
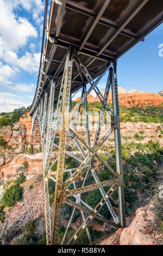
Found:
[[40, 62], [44, 1], [0, 0], [0, 113], [29, 106]]

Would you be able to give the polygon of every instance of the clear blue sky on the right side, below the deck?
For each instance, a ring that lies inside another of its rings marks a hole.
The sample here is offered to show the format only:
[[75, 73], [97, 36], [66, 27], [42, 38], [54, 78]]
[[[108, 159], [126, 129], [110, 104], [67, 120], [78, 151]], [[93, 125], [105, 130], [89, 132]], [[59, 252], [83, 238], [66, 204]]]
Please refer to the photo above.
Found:
[[[162, 32], [163, 23], [148, 34], [144, 42], [138, 42], [118, 59], [118, 86], [126, 90], [136, 89], [149, 93], [159, 93], [163, 90], [163, 56], [159, 56], [160, 44], [163, 49]], [[101, 80], [101, 85], [104, 83], [106, 83], [106, 76]]]

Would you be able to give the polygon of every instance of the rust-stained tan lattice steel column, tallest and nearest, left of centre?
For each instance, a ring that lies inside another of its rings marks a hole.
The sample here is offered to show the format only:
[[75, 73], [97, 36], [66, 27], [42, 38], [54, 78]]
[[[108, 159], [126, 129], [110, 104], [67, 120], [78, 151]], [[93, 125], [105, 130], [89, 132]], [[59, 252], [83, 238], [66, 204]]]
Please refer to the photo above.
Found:
[[62, 203], [63, 190], [63, 175], [65, 164], [65, 149], [66, 149], [66, 130], [69, 128], [69, 106], [70, 106], [70, 89], [72, 76], [72, 52], [68, 51], [65, 63], [65, 81], [64, 93], [62, 98], [62, 112], [61, 112], [61, 127], [57, 162], [57, 179], [55, 184], [54, 208], [53, 208], [53, 223], [51, 245], [57, 244], [60, 208]]

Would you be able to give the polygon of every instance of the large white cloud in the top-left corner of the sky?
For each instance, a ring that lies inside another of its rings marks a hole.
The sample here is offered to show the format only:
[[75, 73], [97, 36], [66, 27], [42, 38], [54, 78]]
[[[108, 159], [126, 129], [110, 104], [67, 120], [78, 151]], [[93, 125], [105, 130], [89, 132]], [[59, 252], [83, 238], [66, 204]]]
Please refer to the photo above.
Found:
[[[23, 2], [25, 4], [26, 1]], [[27, 44], [30, 36], [37, 36], [36, 29], [26, 18], [16, 19], [11, 2], [0, 0], [0, 6], [0, 38], [4, 50], [18, 50]]]

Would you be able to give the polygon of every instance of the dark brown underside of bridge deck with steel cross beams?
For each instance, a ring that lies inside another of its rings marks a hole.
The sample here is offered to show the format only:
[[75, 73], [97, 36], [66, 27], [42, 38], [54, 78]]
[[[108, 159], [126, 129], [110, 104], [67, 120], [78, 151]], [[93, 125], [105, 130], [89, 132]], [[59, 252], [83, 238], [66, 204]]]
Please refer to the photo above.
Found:
[[[163, 20], [162, 0], [55, 0], [47, 22], [47, 2], [39, 77], [30, 114], [49, 87], [49, 80], [61, 79], [62, 62], [70, 45], [94, 79], [109, 61], [120, 58]], [[82, 87], [77, 72], [73, 66], [71, 92]], [[58, 94], [59, 90], [56, 99]]]

